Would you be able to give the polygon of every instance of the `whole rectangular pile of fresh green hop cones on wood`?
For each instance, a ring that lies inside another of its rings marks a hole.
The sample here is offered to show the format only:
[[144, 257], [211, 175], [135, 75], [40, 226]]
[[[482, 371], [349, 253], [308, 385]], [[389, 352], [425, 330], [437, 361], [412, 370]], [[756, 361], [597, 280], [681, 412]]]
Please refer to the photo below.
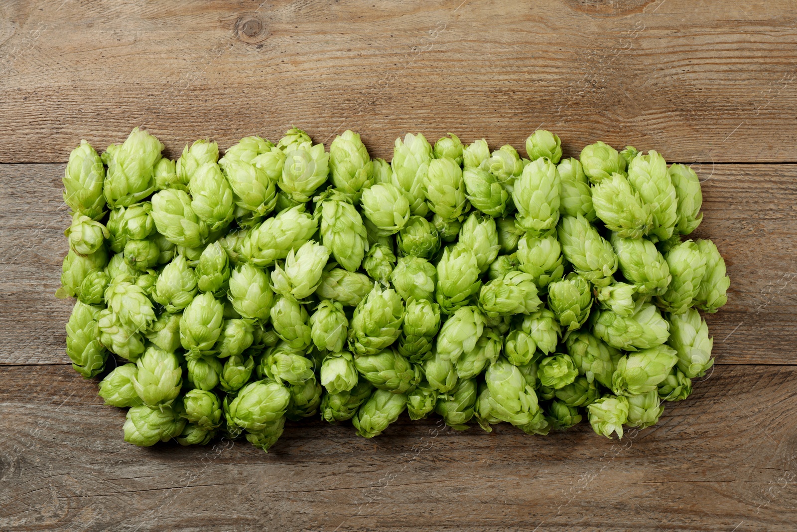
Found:
[[130, 443], [265, 451], [286, 419], [371, 438], [404, 410], [622, 437], [713, 363], [698, 309], [730, 280], [710, 240], [681, 241], [697, 175], [653, 150], [408, 134], [387, 163], [296, 128], [162, 150], [138, 128], [101, 156], [84, 140], [64, 178], [66, 350], [86, 378], [112, 366]]

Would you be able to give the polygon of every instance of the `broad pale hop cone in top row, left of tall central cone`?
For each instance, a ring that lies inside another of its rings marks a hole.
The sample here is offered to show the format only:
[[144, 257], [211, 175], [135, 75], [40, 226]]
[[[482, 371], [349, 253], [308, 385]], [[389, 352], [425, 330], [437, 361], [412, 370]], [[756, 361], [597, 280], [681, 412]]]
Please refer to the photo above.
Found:
[[329, 154], [324, 152], [324, 144], [304, 142], [291, 148], [285, 152], [285, 164], [277, 185], [294, 201], [308, 202], [318, 187], [327, 182]]

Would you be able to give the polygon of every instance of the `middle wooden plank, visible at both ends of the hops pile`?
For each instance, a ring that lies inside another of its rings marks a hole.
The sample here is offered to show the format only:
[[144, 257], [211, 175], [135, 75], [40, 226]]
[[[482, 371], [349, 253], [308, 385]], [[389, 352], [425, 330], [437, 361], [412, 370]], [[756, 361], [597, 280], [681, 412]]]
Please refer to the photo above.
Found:
[[[704, 221], [732, 278], [728, 305], [708, 317], [723, 364], [795, 364], [797, 167], [716, 165], [705, 179]], [[64, 325], [72, 301], [59, 286], [68, 209], [61, 164], [0, 165], [0, 364], [68, 361]]]

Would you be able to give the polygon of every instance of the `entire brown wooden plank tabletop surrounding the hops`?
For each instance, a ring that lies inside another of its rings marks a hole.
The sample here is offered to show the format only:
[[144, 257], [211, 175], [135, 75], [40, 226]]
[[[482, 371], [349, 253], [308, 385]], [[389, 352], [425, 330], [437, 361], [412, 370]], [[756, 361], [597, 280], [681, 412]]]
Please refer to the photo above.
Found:
[[[789, 0], [3, 2], [0, 530], [797, 530], [795, 27]], [[714, 371], [622, 442], [402, 417], [290, 424], [268, 455], [124, 443], [53, 298], [69, 151], [290, 124], [388, 159], [406, 132], [542, 127], [695, 164], [732, 278]]]

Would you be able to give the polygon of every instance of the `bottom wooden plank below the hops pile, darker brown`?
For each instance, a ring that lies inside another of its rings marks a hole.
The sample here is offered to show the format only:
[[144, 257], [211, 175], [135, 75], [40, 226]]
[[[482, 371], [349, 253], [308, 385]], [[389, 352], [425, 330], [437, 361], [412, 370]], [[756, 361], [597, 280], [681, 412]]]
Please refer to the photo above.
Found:
[[[2, 530], [794, 530], [797, 368], [723, 366], [654, 428], [546, 438], [406, 416], [137, 448], [63, 366], [3, 368]], [[537, 527], [535, 529], [535, 527]], [[736, 527], [736, 528], [734, 528]]]

